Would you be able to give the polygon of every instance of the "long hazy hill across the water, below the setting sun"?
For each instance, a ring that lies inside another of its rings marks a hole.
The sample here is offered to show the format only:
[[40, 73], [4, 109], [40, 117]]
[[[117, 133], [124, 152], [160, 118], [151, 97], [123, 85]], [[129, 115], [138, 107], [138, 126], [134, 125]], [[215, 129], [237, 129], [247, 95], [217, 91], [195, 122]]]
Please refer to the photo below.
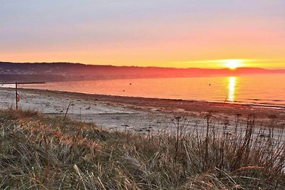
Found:
[[81, 63], [10, 63], [0, 62], [0, 81], [66, 81], [110, 78], [176, 78], [222, 75], [285, 73], [284, 69], [237, 68], [158, 68]]

